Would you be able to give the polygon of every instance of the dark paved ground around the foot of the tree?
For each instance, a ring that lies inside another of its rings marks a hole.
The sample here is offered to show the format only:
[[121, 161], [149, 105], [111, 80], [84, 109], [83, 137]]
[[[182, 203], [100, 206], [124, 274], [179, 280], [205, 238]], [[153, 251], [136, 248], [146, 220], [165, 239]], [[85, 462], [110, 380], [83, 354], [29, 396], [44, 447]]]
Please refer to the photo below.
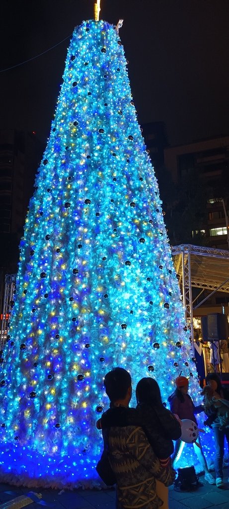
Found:
[[[195, 491], [178, 492], [174, 487], [169, 488], [169, 509], [229, 509], [229, 484], [227, 483], [227, 469], [224, 470], [224, 489], [216, 488], [205, 482], [204, 477], [199, 480], [204, 486], [198, 487]], [[115, 509], [115, 489], [107, 490], [41, 490], [35, 492], [42, 494], [41, 501], [27, 505], [28, 509], [41, 509], [41, 507], [53, 507], [56, 509]], [[15, 488], [14, 486], [0, 484], [0, 509], [6, 507], [5, 503], [18, 496], [28, 494], [26, 488]], [[10, 505], [17, 509], [16, 505]], [[18, 505], [21, 507], [21, 505]]]

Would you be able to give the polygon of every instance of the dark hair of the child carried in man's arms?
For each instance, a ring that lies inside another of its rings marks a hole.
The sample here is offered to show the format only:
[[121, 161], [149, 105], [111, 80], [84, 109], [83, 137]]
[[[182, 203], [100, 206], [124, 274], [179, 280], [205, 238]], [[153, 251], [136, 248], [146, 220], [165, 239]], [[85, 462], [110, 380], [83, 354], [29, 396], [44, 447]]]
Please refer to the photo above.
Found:
[[162, 405], [160, 387], [153, 378], [141, 378], [136, 386], [137, 403]]

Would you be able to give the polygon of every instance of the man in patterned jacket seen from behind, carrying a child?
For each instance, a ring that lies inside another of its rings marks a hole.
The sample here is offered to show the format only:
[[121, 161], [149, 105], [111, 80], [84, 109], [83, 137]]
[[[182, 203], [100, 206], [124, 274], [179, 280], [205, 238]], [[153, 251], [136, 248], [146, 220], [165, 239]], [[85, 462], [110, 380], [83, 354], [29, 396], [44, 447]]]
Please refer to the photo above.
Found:
[[118, 509], [158, 509], [156, 479], [173, 484], [175, 470], [163, 468], [140, 426], [135, 408], [129, 408], [132, 395], [130, 374], [116, 367], [104, 379], [110, 408], [97, 423], [108, 432], [109, 462], [117, 478]]

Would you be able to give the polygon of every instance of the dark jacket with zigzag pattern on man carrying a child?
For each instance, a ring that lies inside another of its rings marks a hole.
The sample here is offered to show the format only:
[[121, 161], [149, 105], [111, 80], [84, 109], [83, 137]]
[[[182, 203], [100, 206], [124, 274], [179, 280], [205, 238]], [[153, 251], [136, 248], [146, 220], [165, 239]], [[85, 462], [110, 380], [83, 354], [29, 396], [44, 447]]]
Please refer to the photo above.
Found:
[[135, 415], [133, 408], [117, 407], [102, 418], [108, 428], [109, 462], [117, 478], [118, 508], [158, 509], [162, 502], [155, 479], [169, 486], [175, 471], [161, 467], [142, 428], [131, 424]]

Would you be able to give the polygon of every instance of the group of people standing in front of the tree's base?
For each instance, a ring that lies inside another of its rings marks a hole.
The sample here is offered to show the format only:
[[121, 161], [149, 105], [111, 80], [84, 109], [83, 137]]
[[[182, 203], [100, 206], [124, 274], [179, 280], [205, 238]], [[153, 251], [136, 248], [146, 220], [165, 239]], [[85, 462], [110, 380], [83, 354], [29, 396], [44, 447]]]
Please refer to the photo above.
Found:
[[168, 410], [156, 380], [142, 378], [136, 386], [137, 406], [130, 408], [129, 372], [116, 367], [104, 378], [110, 406], [97, 421], [97, 428], [102, 430], [106, 461], [115, 475], [117, 509], [168, 509], [168, 486], [175, 481], [174, 467], [184, 447], [182, 419], [191, 419], [197, 425], [195, 414], [202, 411], [207, 415], [206, 426], [213, 429], [216, 478], [209, 472], [199, 436], [193, 447], [206, 481], [223, 487], [224, 438], [229, 444], [229, 425], [221, 414], [227, 412], [225, 408], [229, 410], [229, 391], [216, 373], [209, 373], [206, 384], [211, 389], [211, 399], [203, 393], [203, 404], [195, 407], [188, 394], [188, 379], [179, 376], [175, 384], [176, 389], [168, 398]]

